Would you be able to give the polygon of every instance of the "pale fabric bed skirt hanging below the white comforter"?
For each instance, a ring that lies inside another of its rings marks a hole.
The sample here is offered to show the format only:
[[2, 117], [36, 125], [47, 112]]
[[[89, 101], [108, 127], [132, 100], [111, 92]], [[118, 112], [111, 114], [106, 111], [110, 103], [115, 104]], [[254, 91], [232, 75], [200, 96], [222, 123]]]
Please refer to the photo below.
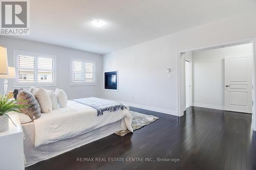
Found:
[[93, 142], [100, 138], [109, 136], [116, 131], [126, 130], [126, 125], [124, 118], [118, 122], [112, 123], [110, 125], [103, 126], [101, 128], [95, 129], [91, 132], [81, 134], [76, 137], [56, 141], [46, 145], [41, 145], [35, 148], [35, 129], [34, 123], [28, 123], [22, 125], [23, 132], [25, 135], [24, 140], [24, 154], [25, 154], [25, 167], [35, 164], [39, 161], [46, 160], [62, 153], [71, 151], [75, 148], [81, 147], [84, 144]]

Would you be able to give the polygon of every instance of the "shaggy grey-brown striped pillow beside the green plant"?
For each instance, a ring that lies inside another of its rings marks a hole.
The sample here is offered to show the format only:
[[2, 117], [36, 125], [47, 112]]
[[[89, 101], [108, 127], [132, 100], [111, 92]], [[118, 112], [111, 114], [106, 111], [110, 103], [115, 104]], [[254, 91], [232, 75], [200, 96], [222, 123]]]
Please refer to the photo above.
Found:
[[27, 90], [19, 90], [17, 100], [20, 100], [17, 102], [20, 105], [28, 105], [28, 107], [21, 109], [21, 111], [27, 114], [32, 120], [41, 116], [40, 106], [31, 92]]

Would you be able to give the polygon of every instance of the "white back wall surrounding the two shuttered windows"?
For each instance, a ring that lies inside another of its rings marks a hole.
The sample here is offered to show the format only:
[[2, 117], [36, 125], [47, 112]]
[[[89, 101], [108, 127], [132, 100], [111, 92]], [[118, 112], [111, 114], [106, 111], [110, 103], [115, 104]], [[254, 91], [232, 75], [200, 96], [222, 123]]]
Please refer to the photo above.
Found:
[[[0, 36], [0, 45], [7, 47], [8, 64], [13, 66], [14, 50], [23, 50], [34, 53], [50, 54], [57, 56], [57, 86], [65, 90], [69, 99], [100, 96], [102, 85], [102, 56], [94, 53], [73, 50], [45, 43], [20, 40]], [[96, 86], [70, 86], [70, 58], [95, 60], [97, 62]], [[13, 90], [14, 79], [8, 79], [8, 91]], [[55, 90], [56, 87], [45, 87]], [[27, 88], [28, 89], [28, 88]], [[4, 92], [4, 79], [0, 79], [0, 92]]]

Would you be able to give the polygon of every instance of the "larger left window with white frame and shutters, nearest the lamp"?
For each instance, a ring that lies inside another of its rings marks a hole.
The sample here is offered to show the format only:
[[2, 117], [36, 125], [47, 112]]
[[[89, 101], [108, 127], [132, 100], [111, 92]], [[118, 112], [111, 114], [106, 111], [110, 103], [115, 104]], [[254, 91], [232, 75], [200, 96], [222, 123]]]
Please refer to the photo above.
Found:
[[56, 56], [23, 51], [15, 51], [14, 53], [16, 86], [56, 85]]

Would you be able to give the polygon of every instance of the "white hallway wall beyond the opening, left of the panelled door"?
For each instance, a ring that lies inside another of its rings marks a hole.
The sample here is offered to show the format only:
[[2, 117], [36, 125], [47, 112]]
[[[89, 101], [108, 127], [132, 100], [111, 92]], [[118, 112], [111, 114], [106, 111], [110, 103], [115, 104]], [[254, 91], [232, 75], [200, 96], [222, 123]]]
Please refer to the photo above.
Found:
[[252, 53], [252, 44], [193, 52], [193, 105], [224, 109], [224, 59]]

